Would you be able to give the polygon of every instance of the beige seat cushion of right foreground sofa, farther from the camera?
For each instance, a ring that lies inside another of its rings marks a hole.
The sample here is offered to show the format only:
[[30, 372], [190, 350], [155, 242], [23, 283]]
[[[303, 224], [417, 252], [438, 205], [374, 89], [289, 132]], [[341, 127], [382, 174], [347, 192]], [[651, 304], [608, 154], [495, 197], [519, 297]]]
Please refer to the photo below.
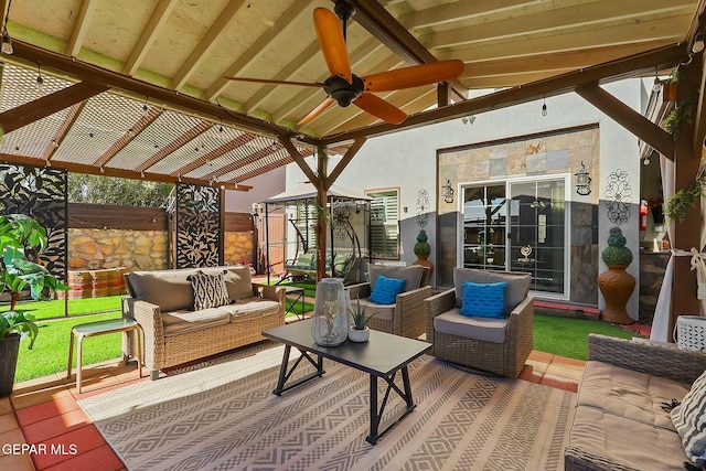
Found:
[[682, 400], [689, 386], [601, 362], [587, 362], [577, 404], [649, 426], [675, 430], [662, 403]]

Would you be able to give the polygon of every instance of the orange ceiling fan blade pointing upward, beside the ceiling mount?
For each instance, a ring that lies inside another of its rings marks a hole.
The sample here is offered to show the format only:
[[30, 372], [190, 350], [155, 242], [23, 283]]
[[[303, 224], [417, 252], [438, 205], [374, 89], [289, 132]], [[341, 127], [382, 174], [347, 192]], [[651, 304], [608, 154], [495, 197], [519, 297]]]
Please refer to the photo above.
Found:
[[331, 75], [344, 78], [350, 84], [353, 81], [351, 61], [345, 49], [341, 20], [331, 10], [317, 8], [313, 11], [313, 24], [317, 29], [319, 46], [329, 72], [331, 72]]

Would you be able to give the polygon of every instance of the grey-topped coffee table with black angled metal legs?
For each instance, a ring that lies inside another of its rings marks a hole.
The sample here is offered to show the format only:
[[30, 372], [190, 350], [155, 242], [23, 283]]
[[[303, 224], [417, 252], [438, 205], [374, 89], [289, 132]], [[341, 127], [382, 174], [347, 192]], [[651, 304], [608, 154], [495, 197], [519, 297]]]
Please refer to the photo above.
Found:
[[[279, 379], [272, 393], [280, 396], [284, 392], [292, 387], [321, 377], [325, 373], [323, 370], [323, 358], [333, 360], [334, 362], [370, 374], [371, 428], [370, 435], [365, 437], [365, 440], [371, 445], [375, 445], [382, 435], [416, 407], [414, 398], [411, 397], [411, 384], [409, 382], [409, 370], [407, 365], [431, 347], [431, 344], [371, 330], [371, 338], [367, 342], [356, 343], [346, 340], [338, 346], [321, 346], [317, 344], [311, 336], [312, 322], [312, 319], [308, 319], [293, 324], [263, 331], [263, 335], [267, 339], [285, 344], [285, 355], [282, 356], [282, 364], [279, 368]], [[300, 355], [292, 366], [289, 367], [289, 354], [292, 346], [299, 350]], [[315, 360], [312, 354], [317, 357]], [[313, 365], [315, 372], [288, 384], [295, 370], [304, 358]], [[404, 390], [395, 384], [397, 372], [402, 375]], [[383, 402], [379, 407], [377, 402], [378, 378], [387, 383], [387, 389], [383, 395]], [[386, 418], [384, 424], [381, 424], [385, 405], [393, 390], [405, 400], [407, 406], [394, 416]]]

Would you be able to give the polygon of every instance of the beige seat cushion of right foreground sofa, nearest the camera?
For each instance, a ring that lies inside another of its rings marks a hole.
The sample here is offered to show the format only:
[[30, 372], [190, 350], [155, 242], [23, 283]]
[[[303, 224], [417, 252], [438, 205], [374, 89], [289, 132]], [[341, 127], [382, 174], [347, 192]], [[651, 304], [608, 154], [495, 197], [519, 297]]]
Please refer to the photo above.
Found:
[[686, 460], [675, 431], [589, 406], [574, 409], [569, 443], [639, 470], [684, 471], [682, 463]]

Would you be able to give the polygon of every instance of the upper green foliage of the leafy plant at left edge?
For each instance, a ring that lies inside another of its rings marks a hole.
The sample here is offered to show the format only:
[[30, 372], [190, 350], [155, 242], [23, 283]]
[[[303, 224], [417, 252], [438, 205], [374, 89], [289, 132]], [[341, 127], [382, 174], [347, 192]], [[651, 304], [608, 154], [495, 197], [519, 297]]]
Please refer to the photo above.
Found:
[[0, 283], [2, 291], [10, 292], [10, 310], [14, 311], [18, 299], [28, 286], [35, 300], [46, 300], [44, 290], [53, 293], [68, 287], [58, 281], [43, 265], [32, 261], [46, 249], [46, 229], [33, 217], [24, 214], [0, 216]]

